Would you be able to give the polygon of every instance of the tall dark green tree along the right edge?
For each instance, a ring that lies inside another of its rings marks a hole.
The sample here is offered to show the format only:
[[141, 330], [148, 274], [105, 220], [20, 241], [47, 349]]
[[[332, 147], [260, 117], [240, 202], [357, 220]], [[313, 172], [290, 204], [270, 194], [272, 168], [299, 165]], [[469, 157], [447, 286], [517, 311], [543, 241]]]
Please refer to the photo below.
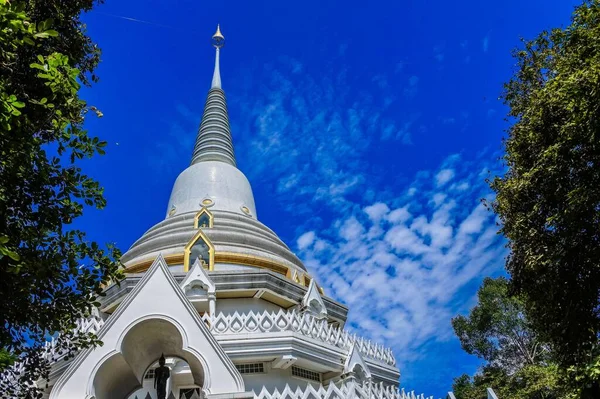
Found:
[[[600, 2], [515, 51], [513, 124], [491, 203], [506, 267], [563, 368], [597, 361], [600, 334]], [[596, 397], [600, 397], [598, 381]]]

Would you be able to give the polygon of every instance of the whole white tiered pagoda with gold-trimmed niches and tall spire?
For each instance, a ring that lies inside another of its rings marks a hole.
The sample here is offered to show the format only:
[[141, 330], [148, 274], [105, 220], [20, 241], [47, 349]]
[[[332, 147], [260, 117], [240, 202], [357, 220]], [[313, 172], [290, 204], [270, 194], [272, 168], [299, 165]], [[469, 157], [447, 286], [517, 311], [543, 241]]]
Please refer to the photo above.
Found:
[[236, 166], [223, 43], [217, 29], [191, 163], [164, 220], [123, 255], [127, 277], [106, 288], [79, 326], [104, 345], [73, 359], [59, 354], [46, 397], [156, 399], [154, 370], [164, 354], [167, 398], [415, 398], [398, 389], [392, 350], [345, 330], [348, 308], [260, 222]]

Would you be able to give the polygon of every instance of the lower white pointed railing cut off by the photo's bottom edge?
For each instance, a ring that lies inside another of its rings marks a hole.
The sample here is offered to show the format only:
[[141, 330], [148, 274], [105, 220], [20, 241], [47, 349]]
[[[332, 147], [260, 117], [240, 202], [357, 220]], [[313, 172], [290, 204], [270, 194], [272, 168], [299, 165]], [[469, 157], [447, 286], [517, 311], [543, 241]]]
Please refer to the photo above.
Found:
[[384, 386], [383, 383], [374, 384], [371, 382], [356, 383], [349, 382], [342, 384], [341, 387], [335, 384], [329, 384], [327, 388], [322, 385], [315, 388], [307, 385], [305, 388], [291, 389], [286, 385], [282, 391], [275, 388], [273, 391], [265, 387], [260, 393], [254, 393], [254, 399], [433, 399], [433, 396], [423, 394], [416, 395], [414, 392], [405, 392], [404, 389], [398, 389], [395, 386]]

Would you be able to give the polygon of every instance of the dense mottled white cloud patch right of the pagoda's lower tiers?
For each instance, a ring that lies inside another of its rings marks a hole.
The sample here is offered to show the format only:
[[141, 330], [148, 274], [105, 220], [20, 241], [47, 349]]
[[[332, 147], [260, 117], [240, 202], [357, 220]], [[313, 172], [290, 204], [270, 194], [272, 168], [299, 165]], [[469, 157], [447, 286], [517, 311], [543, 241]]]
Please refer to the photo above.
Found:
[[[348, 326], [391, 345], [401, 368], [419, 348], [451, 339], [450, 319], [468, 309], [485, 275], [502, 269], [504, 242], [480, 203], [489, 195], [479, 176], [484, 165], [450, 156], [408, 182], [412, 196], [393, 207], [377, 196], [355, 204], [311, 235], [318, 251], [299, 245], [326, 292], [349, 306]], [[458, 183], [448, 185], [453, 178]]]

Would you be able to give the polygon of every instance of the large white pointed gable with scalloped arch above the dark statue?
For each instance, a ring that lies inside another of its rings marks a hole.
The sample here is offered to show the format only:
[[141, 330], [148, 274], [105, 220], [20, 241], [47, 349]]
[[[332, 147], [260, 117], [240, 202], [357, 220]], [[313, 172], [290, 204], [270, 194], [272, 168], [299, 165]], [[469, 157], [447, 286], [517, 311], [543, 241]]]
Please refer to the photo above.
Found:
[[[141, 386], [145, 370], [162, 352], [184, 359], [195, 383], [205, 386], [210, 394], [244, 392], [241, 375], [161, 255], [107, 319], [98, 338], [104, 345], [76, 356], [54, 385], [51, 399], [112, 399], [118, 396], [112, 388], [116, 385], [132, 392]], [[115, 366], [123, 370], [117, 371]], [[132, 376], [127, 386], [115, 380], [121, 371]]]

